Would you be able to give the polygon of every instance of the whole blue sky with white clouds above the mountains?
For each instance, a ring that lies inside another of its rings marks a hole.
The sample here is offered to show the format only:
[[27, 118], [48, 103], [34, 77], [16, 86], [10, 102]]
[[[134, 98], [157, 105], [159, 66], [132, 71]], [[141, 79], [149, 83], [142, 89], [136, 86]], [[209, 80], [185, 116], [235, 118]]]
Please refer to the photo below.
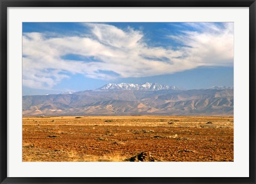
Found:
[[23, 95], [157, 82], [233, 86], [233, 23], [22, 24]]

